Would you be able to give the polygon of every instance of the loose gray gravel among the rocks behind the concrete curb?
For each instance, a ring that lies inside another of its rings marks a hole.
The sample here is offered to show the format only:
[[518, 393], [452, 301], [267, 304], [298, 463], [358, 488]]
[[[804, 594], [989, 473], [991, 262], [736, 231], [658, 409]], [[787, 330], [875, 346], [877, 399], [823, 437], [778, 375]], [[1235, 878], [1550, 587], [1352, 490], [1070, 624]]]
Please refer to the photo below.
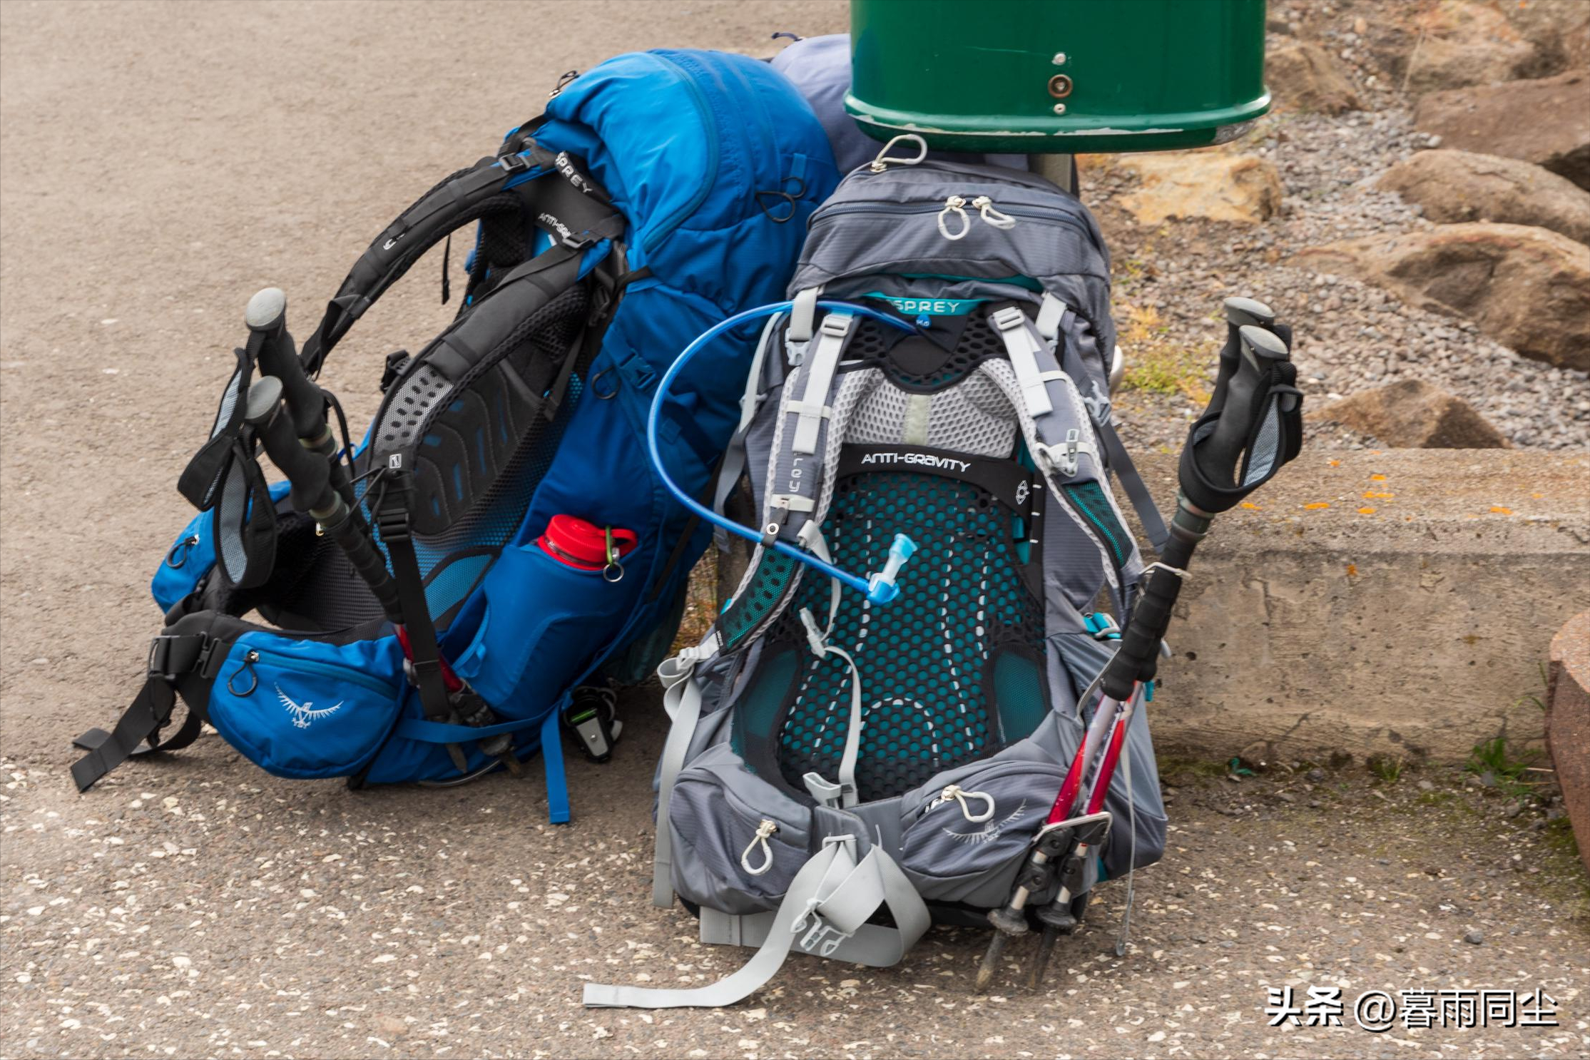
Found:
[[[1220, 300], [1251, 294], [1296, 326], [1294, 359], [1313, 408], [1355, 391], [1421, 378], [1466, 399], [1514, 445], [1590, 447], [1590, 373], [1518, 356], [1468, 319], [1404, 305], [1374, 284], [1282, 264], [1334, 240], [1431, 227], [1417, 205], [1374, 188], [1386, 168], [1439, 146], [1439, 138], [1412, 127], [1412, 100], [1385, 84], [1385, 75], [1375, 73], [1364, 46], [1345, 29], [1361, 11], [1379, 24], [1388, 8], [1339, 6], [1329, 24], [1305, 33], [1334, 48], [1372, 110], [1337, 118], [1269, 114], [1237, 145], [1280, 172], [1286, 197], [1277, 218], [1258, 226], [1142, 226], [1115, 205], [1137, 178], [1084, 162], [1083, 200], [1099, 215], [1115, 254], [1116, 318], [1151, 308], [1167, 329], [1167, 346], [1188, 351], [1194, 366], [1213, 366], [1224, 342], [1224, 327], [1215, 321]], [[1132, 346], [1123, 342], [1123, 350], [1130, 364]], [[1180, 448], [1202, 404], [1188, 396], [1127, 391], [1118, 402], [1123, 434], [1138, 445]], [[1318, 420], [1309, 424], [1309, 439], [1321, 447], [1375, 445]]]

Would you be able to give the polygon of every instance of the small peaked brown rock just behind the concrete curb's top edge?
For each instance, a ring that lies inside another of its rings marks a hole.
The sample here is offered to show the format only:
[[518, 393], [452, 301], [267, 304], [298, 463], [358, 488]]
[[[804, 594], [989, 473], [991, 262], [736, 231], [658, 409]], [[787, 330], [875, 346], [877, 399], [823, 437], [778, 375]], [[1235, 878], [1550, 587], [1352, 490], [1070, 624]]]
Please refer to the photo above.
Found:
[[1507, 448], [1507, 439], [1472, 405], [1423, 380], [1359, 391], [1331, 402], [1318, 416], [1401, 450]]

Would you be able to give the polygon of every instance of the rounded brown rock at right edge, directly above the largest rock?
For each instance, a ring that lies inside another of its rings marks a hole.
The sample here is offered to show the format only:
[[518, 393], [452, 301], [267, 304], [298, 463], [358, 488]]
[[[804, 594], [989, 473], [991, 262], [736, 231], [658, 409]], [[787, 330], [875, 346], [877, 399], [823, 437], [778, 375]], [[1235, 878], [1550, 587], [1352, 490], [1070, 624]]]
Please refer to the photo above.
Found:
[[1379, 186], [1425, 208], [1437, 224], [1533, 224], [1590, 243], [1590, 191], [1533, 162], [1471, 151], [1420, 151]]

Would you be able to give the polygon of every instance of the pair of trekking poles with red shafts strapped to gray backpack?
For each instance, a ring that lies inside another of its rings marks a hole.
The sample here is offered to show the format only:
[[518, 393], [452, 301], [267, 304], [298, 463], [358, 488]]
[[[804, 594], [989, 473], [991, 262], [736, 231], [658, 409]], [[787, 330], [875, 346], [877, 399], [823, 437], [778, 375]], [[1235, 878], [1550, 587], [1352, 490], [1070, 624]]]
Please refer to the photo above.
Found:
[[[1010, 939], [1029, 933], [1027, 904], [1032, 896], [1046, 893], [1056, 879], [1056, 896], [1037, 911], [1043, 939], [1029, 977], [1034, 985], [1043, 976], [1056, 938], [1076, 928], [1072, 904], [1083, 892], [1089, 853], [1108, 836], [1110, 814], [1103, 810], [1103, 803], [1143, 687], [1154, 679], [1170, 610], [1181, 593], [1192, 551], [1216, 515], [1269, 482], [1302, 443], [1302, 396], [1293, 385], [1297, 370], [1286, 342], [1277, 334], [1285, 326], [1274, 323], [1269, 307], [1251, 299], [1227, 299], [1224, 308], [1227, 324], [1235, 331], [1235, 358], [1227, 366], [1223, 353], [1215, 394], [1188, 432], [1170, 539], [1159, 561], [1150, 564], [1148, 585], [1121, 634], [1121, 647], [1099, 675], [1102, 698], [1092, 721], [1027, 861], [1016, 874], [1010, 899], [989, 911], [994, 938], [978, 966], [973, 984], [978, 993], [987, 990]], [[1258, 323], [1240, 323], [1243, 318]], [[1261, 323], [1275, 327], [1275, 332]], [[1291, 331], [1286, 329], [1285, 335], [1289, 337]], [[1092, 783], [1084, 791], [1096, 758]]]

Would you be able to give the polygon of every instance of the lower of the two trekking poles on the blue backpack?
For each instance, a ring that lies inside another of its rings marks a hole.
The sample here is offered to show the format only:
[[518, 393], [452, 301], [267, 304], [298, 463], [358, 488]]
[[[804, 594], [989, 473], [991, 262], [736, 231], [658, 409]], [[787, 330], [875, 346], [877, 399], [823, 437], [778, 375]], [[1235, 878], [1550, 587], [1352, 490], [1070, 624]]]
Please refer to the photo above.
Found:
[[[386, 559], [375, 547], [363, 520], [356, 518], [356, 509], [332, 485], [332, 461], [324, 459], [318, 451], [305, 448], [301, 443], [296, 434], [297, 424], [288, 415], [289, 410], [281, 400], [281, 380], [273, 375], [256, 380], [248, 388], [248, 407], [243, 413], [243, 421], [254, 427], [254, 434], [264, 445], [270, 461], [293, 483], [293, 507], [299, 512], [307, 512], [318, 524], [320, 532], [337, 542], [337, 547], [342, 548], [355, 572], [370, 586], [370, 593], [398, 631], [398, 642], [402, 645], [404, 655], [412, 660], [413, 652], [409, 647], [409, 631], [404, 623], [398, 583], [393, 580], [391, 572], [386, 571]], [[491, 707], [469, 691], [469, 687], [453, 672], [447, 660], [440, 656], [437, 660], [442, 669], [442, 682], [448, 693], [450, 709], [453, 710], [448, 721], [471, 726], [496, 721]], [[464, 702], [471, 706], [471, 710], [467, 717], [460, 718], [458, 707]], [[514, 737], [510, 734], [498, 733], [480, 741], [480, 750], [491, 758], [501, 760], [502, 764], [512, 761], [514, 764], [509, 769], [518, 772], [518, 760], [512, 753]], [[447, 744], [447, 753], [460, 772], [467, 771], [469, 763], [458, 744]]]

